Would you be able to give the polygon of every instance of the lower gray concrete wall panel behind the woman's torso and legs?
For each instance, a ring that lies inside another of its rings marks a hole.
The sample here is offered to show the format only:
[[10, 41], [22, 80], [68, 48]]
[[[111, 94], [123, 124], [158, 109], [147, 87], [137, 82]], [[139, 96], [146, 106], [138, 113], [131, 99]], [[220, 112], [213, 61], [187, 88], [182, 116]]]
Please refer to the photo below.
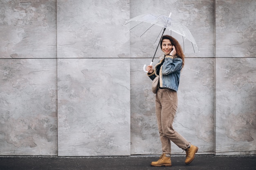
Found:
[[[152, 80], [142, 71], [146, 60], [133, 59], [131, 62], [131, 154], [134, 155], [162, 152]], [[187, 58], [185, 61], [173, 126], [188, 141], [200, 147], [200, 153], [211, 154], [215, 142], [214, 59]], [[172, 153], [181, 154], [182, 150], [172, 143]]]

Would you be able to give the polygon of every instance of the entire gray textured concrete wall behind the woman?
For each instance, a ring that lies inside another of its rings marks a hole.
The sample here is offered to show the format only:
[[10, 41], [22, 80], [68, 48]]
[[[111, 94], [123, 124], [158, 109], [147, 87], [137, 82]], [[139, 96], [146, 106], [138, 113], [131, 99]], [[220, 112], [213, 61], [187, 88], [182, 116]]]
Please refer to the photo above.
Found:
[[1, 0], [0, 155], [160, 154], [142, 67], [161, 29], [138, 38], [147, 25], [123, 24], [170, 12], [200, 49], [185, 40], [176, 130], [199, 154], [256, 154], [255, 9], [254, 0]]

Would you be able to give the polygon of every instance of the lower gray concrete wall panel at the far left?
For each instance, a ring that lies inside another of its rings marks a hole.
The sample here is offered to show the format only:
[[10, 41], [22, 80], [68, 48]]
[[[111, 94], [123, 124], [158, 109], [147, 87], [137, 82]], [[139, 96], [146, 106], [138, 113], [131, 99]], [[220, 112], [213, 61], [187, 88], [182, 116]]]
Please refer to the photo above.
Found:
[[0, 77], [0, 154], [56, 155], [56, 59], [1, 59]]

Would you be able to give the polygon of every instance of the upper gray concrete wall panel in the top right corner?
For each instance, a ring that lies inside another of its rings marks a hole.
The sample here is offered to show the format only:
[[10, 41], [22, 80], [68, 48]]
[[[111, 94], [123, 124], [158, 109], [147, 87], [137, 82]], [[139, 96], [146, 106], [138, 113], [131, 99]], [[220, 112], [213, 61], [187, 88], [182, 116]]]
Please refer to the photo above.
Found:
[[216, 57], [255, 57], [256, 1], [216, 0]]

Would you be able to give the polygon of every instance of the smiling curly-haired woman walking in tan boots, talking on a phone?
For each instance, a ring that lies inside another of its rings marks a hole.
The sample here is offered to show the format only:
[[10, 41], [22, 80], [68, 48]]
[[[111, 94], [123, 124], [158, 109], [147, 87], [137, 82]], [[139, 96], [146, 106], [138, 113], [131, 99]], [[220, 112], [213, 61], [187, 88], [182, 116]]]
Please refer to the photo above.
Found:
[[191, 145], [182, 135], [173, 129], [173, 119], [177, 110], [177, 90], [180, 82], [180, 72], [184, 66], [184, 54], [179, 42], [164, 35], [160, 47], [165, 55], [153, 66], [147, 66], [146, 71], [150, 79], [159, 75], [159, 88], [155, 96], [155, 110], [157, 124], [162, 143], [163, 154], [158, 161], [151, 162], [151, 166], [171, 166], [171, 141], [186, 151], [185, 163], [193, 161], [198, 147]]

